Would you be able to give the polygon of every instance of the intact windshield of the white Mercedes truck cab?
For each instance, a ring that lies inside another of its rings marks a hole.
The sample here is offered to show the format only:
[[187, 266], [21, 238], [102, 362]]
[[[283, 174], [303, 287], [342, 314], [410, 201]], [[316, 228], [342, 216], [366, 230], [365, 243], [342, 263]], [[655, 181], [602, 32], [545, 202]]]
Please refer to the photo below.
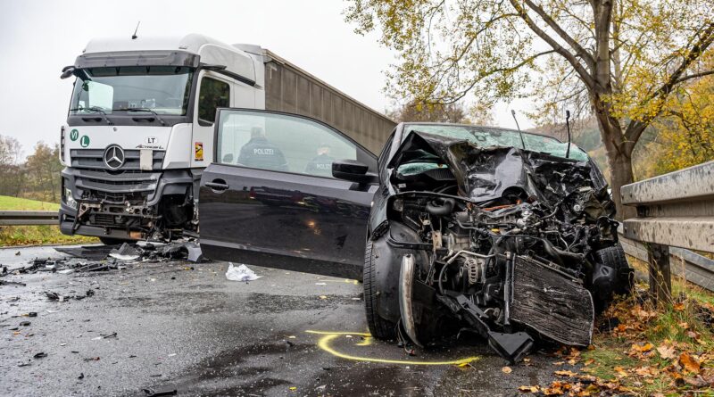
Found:
[[74, 83], [70, 114], [107, 114], [150, 109], [185, 115], [194, 70], [177, 66], [122, 66], [81, 70]]

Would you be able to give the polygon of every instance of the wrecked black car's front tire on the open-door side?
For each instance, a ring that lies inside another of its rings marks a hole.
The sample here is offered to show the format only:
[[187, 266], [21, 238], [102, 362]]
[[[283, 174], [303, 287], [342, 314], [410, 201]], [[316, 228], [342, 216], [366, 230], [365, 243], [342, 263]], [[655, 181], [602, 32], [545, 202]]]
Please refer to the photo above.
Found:
[[393, 340], [396, 337], [396, 324], [381, 318], [378, 311], [377, 263], [372, 252], [373, 243], [368, 241], [364, 248], [364, 269], [362, 283], [364, 286], [364, 308], [367, 313], [369, 333], [381, 340]]

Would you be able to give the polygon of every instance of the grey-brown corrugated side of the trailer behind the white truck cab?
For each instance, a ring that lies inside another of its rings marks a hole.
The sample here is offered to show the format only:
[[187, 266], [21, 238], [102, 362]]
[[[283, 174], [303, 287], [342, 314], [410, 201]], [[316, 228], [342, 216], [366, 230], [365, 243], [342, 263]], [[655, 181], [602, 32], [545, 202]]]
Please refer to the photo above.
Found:
[[263, 56], [266, 110], [309, 116], [352, 136], [372, 153], [382, 150], [396, 126], [393, 120], [268, 50]]

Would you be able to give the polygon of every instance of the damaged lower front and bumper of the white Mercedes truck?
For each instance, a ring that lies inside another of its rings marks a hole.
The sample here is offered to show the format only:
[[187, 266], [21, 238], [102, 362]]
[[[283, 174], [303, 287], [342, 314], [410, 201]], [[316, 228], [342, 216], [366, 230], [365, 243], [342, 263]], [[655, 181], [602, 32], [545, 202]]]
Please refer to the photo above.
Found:
[[[121, 240], [166, 238], [196, 219], [191, 170], [62, 170], [60, 230], [65, 235]], [[195, 222], [194, 222], [195, 223]], [[169, 232], [170, 234], [170, 232]]]

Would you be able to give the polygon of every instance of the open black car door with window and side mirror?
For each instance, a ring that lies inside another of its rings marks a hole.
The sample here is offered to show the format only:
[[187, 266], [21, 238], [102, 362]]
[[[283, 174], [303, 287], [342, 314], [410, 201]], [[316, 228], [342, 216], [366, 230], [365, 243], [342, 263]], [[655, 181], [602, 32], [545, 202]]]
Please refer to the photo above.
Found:
[[361, 279], [377, 158], [295, 114], [220, 109], [215, 128], [199, 194], [203, 254]]

